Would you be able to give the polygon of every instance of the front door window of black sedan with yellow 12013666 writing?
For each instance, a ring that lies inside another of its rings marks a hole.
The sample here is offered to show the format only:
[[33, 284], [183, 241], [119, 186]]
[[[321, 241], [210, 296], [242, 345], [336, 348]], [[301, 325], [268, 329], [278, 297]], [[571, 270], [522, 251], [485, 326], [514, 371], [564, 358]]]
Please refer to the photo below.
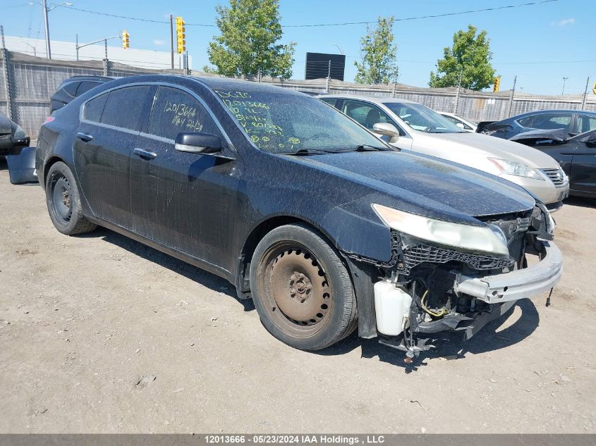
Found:
[[203, 132], [221, 136], [204, 106], [181, 89], [159, 87], [149, 119], [150, 134], [175, 140], [181, 132]]

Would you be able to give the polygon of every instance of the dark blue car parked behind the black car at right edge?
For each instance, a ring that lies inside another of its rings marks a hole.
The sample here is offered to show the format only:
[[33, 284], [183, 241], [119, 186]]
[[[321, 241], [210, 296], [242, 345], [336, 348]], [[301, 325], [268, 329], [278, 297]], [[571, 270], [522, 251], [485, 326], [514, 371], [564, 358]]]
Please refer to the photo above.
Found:
[[596, 130], [596, 112], [583, 110], [538, 110], [496, 122], [478, 125], [477, 132], [509, 140], [530, 130], [563, 129], [568, 136]]

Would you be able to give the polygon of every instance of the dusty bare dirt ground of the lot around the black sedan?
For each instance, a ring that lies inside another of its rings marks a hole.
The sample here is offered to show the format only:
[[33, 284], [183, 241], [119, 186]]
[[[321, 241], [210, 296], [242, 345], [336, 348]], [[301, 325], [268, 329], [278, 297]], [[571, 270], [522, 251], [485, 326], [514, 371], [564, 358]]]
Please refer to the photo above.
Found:
[[1, 162], [0, 432], [594, 433], [595, 205], [555, 216], [552, 306], [519, 302], [408, 371], [354, 335], [291, 349], [214, 275], [109, 230], [61, 235]]

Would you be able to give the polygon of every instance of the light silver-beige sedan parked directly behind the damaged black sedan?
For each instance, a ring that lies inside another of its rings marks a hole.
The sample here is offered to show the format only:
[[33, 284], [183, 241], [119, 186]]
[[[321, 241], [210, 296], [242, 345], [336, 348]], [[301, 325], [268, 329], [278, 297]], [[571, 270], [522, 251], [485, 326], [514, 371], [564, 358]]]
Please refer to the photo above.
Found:
[[322, 96], [394, 147], [461, 163], [498, 175], [532, 192], [551, 211], [559, 209], [569, 185], [557, 161], [510, 141], [461, 130], [439, 113], [405, 99]]

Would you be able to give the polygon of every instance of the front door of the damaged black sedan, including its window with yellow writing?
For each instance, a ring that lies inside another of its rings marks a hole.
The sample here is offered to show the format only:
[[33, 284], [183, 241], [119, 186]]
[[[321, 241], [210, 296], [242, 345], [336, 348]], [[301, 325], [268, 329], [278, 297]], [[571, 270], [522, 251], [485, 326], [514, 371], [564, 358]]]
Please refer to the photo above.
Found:
[[[222, 138], [223, 155], [175, 149], [180, 132]], [[196, 94], [160, 85], [147, 129], [130, 159], [133, 230], [218, 266], [229, 267], [241, 162], [221, 127]]]

